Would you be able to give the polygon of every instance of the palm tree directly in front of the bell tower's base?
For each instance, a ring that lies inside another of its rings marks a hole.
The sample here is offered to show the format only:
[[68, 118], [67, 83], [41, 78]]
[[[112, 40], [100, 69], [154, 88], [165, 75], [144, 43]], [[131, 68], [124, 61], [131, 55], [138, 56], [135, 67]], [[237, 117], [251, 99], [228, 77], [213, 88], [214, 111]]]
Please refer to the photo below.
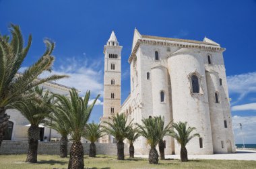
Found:
[[112, 121], [104, 121], [108, 127], [104, 126], [106, 132], [113, 135], [117, 139], [117, 160], [125, 160], [123, 140], [127, 137], [127, 133], [132, 128], [131, 122], [127, 125], [127, 117], [124, 113], [113, 116]]

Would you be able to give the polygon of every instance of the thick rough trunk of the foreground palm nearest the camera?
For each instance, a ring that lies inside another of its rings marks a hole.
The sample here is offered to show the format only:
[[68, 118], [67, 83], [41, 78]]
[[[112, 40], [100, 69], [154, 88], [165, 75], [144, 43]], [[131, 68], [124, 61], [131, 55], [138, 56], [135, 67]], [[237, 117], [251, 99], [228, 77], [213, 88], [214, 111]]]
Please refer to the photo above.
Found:
[[84, 169], [84, 148], [81, 142], [73, 142], [68, 169]]

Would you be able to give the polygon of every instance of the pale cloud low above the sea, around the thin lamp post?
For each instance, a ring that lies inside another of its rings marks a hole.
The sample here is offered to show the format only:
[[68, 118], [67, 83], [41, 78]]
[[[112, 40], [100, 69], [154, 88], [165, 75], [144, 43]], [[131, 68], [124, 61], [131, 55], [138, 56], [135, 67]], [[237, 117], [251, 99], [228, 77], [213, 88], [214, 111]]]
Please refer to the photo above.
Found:
[[[235, 115], [234, 117], [232, 117], [232, 123], [236, 144], [243, 143], [242, 135], [245, 139], [245, 144], [255, 144], [256, 116], [242, 117]], [[240, 129], [239, 123], [242, 123], [242, 131]]]

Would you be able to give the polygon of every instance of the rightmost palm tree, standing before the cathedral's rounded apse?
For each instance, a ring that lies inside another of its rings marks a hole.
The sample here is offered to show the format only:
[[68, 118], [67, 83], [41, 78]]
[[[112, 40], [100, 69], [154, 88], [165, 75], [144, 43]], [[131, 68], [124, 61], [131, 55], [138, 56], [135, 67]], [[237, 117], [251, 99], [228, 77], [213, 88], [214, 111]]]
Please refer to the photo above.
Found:
[[177, 132], [172, 131], [170, 135], [174, 137], [179, 144], [181, 144], [181, 162], [187, 162], [186, 145], [193, 137], [200, 137], [200, 135], [199, 133], [191, 135], [191, 132], [195, 130], [195, 127], [187, 127], [187, 121], [185, 123], [179, 121], [178, 123], [173, 123], [172, 126], [177, 130]]

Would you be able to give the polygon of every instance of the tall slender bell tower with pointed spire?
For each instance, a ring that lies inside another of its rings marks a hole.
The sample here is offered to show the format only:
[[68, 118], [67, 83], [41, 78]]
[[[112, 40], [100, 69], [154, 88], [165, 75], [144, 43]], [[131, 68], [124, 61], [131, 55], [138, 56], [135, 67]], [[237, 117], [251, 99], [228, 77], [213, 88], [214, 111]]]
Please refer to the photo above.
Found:
[[[100, 121], [108, 121], [108, 117], [121, 110], [121, 50], [115, 32], [110, 35], [104, 46], [104, 97], [103, 117]], [[101, 143], [111, 143], [113, 138], [105, 135]]]

